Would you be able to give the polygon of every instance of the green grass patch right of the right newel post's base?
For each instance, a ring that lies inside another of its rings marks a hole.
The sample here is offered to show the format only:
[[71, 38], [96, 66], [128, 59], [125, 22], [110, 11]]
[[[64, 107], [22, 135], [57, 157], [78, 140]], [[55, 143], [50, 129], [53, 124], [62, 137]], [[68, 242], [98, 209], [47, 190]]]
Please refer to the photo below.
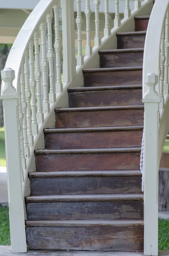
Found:
[[158, 220], [158, 249], [169, 250], [169, 220]]

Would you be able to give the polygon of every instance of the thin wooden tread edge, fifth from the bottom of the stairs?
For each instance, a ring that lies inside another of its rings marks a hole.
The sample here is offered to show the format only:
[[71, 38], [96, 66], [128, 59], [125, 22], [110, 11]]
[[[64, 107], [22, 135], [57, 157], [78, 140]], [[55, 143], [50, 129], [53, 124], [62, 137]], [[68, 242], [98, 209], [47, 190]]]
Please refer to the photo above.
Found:
[[57, 133], [77, 133], [77, 132], [97, 132], [97, 131], [140, 131], [143, 130], [143, 125], [131, 126], [115, 126], [115, 127], [93, 127], [93, 128], [46, 128], [44, 134]]

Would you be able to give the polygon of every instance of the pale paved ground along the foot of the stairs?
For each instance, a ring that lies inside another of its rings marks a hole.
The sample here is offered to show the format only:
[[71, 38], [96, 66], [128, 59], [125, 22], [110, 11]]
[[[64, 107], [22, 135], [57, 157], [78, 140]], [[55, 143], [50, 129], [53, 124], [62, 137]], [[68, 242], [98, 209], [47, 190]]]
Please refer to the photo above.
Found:
[[[0, 256], [143, 256], [142, 253], [126, 252], [79, 252], [79, 251], [28, 251], [25, 253], [11, 253], [10, 246], [0, 246]], [[169, 256], [169, 251], [160, 251], [159, 256]]]

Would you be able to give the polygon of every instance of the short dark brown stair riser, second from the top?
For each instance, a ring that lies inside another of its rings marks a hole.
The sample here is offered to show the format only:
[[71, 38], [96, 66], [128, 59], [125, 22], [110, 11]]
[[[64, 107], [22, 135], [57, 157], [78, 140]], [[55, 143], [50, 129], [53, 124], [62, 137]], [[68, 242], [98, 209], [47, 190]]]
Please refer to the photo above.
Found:
[[144, 48], [146, 35], [117, 36], [117, 49]]

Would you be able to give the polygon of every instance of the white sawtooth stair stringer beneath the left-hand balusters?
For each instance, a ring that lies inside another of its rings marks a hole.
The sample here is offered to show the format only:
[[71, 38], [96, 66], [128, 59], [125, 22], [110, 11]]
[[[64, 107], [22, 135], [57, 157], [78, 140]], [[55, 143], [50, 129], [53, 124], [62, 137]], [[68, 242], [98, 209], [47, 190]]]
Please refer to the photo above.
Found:
[[30, 195], [30, 187], [29, 187], [29, 172], [35, 172], [35, 156], [34, 150], [36, 149], [44, 149], [44, 128], [54, 128], [54, 109], [55, 108], [68, 108], [69, 107], [69, 95], [67, 89], [70, 87], [83, 87], [83, 69], [89, 68], [98, 68], [99, 67], [99, 50], [106, 50], [106, 49], [117, 49], [117, 37], [116, 33], [120, 32], [132, 32], [135, 31], [135, 16], [141, 15], [150, 15], [153, 7], [153, 0], [145, 0], [142, 3], [142, 6], [138, 10], [134, 10], [131, 14], [131, 17], [124, 18], [121, 21], [121, 25], [119, 27], [115, 27], [111, 30], [111, 35], [108, 38], [102, 38], [102, 43], [100, 47], [97, 47], [92, 55], [85, 61], [85, 63], [77, 70], [76, 76], [73, 81], [70, 81], [66, 84], [63, 91], [58, 93], [57, 100], [55, 104], [53, 104], [52, 108], [50, 109], [46, 119], [43, 123], [43, 126], [40, 128], [39, 133], [34, 141], [34, 145], [31, 151], [31, 155], [29, 157], [29, 162], [27, 163], [27, 169], [25, 172], [24, 182], [23, 182], [23, 196], [26, 197]]

